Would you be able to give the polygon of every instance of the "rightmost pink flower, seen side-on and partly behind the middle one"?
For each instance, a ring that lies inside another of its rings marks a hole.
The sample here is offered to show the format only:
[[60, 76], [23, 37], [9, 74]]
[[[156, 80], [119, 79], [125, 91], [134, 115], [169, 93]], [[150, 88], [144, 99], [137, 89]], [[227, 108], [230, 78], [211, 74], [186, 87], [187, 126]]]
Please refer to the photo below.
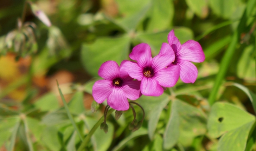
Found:
[[174, 30], [168, 34], [168, 42], [175, 53], [175, 60], [171, 66], [180, 66], [180, 79], [184, 83], [194, 83], [197, 79], [197, 67], [190, 61], [201, 63], [205, 59], [205, 55], [201, 45], [194, 40], [188, 40], [184, 44], [174, 35]]

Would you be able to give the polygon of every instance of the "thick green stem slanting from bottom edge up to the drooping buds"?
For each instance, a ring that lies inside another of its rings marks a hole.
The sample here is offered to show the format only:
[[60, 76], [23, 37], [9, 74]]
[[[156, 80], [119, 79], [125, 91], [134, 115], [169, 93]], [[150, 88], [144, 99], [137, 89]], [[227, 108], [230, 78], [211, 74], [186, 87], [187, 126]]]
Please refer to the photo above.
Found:
[[[114, 111], [114, 109], [110, 109], [107, 113], [107, 116], [108, 117], [112, 112]], [[82, 144], [79, 146], [78, 150], [77, 151], [82, 151], [85, 146], [88, 144], [91, 136], [94, 134], [94, 132], [97, 130], [97, 128], [101, 125], [101, 123], [104, 121], [104, 116], [102, 116], [98, 122], [92, 127], [92, 129], [90, 130], [90, 132], [88, 133], [88, 135], [84, 138]]]

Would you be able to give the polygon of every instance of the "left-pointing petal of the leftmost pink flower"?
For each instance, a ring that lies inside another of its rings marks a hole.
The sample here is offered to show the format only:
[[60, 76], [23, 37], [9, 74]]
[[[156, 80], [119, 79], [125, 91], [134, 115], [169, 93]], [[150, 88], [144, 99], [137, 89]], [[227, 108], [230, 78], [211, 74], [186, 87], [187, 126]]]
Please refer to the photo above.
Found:
[[97, 103], [104, 102], [113, 91], [113, 81], [98, 80], [92, 86], [92, 96]]

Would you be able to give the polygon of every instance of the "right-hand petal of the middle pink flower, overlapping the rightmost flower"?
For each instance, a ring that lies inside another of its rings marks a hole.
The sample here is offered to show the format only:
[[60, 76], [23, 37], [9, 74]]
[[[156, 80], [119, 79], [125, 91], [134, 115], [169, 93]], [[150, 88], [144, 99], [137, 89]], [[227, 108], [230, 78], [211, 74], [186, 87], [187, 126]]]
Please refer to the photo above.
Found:
[[162, 68], [155, 73], [154, 79], [158, 81], [161, 86], [173, 87], [180, 76], [180, 66], [174, 65], [167, 68]]

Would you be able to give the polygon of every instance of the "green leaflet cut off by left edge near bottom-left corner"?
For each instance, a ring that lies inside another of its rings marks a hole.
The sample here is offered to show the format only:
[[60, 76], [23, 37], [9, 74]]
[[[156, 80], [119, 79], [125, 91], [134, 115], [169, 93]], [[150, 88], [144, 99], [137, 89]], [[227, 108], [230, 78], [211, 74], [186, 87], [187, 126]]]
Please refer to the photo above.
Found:
[[7, 142], [11, 137], [12, 132], [15, 131], [15, 125], [20, 123], [20, 119], [17, 117], [0, 119], [0, 146]]

